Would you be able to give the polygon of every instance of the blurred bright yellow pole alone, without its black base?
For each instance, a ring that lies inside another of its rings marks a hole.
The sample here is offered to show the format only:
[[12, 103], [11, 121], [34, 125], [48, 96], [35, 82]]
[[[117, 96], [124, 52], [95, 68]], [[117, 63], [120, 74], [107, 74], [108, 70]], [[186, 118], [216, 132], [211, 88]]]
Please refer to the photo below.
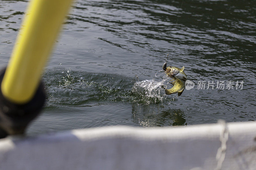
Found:
[[1, 84], [5, 98], [25, 104], [41, 74], [72, 0], [31, 0]]

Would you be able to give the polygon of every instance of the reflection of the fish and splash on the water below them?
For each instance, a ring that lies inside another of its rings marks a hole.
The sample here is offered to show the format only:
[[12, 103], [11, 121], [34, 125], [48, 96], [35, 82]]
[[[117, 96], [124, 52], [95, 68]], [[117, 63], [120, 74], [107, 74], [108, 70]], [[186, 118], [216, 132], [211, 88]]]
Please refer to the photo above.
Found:
[[[167, 109], [161, 103], [154, 105], [132, 104], [132, 118], [137, 126], [177, 126], [186, 122], [182, 109]], [[187, 125], [187, 123], [185, 124]]]

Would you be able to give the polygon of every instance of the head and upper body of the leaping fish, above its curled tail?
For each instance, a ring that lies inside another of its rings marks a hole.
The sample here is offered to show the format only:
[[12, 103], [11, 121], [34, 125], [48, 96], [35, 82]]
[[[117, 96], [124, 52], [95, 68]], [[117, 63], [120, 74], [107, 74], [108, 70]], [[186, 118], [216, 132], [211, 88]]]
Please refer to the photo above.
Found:
[[177, 78], [183, 81], [186, 81], [188, 78], [184, 73], [184, 66], [180, 69], [178, 67], [169, 66], [166, 67], [165, 74], [171, 78]]

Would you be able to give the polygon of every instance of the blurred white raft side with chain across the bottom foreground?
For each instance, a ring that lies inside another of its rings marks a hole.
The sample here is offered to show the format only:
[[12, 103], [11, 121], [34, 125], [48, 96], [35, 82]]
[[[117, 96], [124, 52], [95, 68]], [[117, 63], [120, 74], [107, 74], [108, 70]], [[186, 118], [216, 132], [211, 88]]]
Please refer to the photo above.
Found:
[[256, 123], [112, 126], [7, 137], [0, 139], [0, 169], [254, 170]]

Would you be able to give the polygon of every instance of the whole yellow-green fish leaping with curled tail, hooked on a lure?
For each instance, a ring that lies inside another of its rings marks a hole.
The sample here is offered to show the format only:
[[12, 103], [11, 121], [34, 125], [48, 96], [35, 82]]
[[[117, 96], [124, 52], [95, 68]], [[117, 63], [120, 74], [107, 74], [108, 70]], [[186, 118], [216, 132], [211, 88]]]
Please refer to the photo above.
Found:
[[188, 79], [184, 72], [185, 67], [183, 66], [180, 69], [178, 67], [166, 66], [167, 63], [165, 62], [163, 64], [163, 70], [168, 77], [172, 78], [173, 81], [171, 80], [170, 83], [173, 85], [173, 87], [171, 89], [166, 89], [163, 87], [165, 89], [165, 94], [169, 95], [178, 93], [178, 96], [180, 96], [185, 89], [185, 83]]

